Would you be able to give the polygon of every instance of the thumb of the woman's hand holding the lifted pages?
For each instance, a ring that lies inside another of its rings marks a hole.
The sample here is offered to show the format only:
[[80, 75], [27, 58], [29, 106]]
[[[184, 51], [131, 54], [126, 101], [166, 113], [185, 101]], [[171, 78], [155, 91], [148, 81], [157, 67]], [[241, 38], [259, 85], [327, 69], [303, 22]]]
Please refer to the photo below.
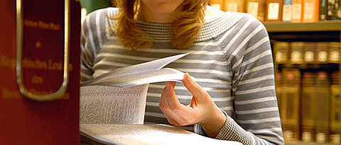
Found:
[[208, 93], [202, 89], [197, 82], [195, 82], [192, 78], [190, 78], [190, 75], [186, 73], [183, 76], [183, 84], [185, 87], [190, 91], [190, 93], [197, 98], [198, 101], [202, 100], [204, 96], [207, 96]]

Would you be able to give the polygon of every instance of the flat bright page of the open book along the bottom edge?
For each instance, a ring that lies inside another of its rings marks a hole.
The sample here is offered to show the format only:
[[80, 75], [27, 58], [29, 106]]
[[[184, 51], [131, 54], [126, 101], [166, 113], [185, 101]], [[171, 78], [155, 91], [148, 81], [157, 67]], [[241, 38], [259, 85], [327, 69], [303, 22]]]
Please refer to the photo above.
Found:
[[82, 136], [103, 144], [238, 144], [165, 124], [80, 124]]

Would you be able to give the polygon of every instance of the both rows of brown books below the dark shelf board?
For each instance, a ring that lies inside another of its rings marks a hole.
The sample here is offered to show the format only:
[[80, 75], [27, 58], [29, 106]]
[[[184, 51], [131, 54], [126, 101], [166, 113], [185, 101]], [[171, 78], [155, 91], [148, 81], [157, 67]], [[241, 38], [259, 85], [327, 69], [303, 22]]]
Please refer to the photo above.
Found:
[[340, 144], [340, 50], [340, 42], [274, 43], [286, 141]]

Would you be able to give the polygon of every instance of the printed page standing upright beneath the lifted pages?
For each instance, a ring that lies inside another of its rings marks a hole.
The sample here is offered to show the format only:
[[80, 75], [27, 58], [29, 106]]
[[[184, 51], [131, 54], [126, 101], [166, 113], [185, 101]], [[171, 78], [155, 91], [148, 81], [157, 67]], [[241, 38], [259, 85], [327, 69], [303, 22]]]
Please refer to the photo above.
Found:
[[80, 123], [144, 124], [148, 84], [81, 86]]

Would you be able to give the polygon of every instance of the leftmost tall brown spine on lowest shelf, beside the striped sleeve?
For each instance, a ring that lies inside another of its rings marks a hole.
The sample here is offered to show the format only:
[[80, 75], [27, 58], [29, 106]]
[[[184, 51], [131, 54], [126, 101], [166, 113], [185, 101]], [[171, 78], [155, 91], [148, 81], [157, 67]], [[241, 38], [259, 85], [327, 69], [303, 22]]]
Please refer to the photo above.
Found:
[[283, 69], [282, 124], [286, 141], [299, 139], [299, 101], [301, 90], [301, 72], [299, 69]]

